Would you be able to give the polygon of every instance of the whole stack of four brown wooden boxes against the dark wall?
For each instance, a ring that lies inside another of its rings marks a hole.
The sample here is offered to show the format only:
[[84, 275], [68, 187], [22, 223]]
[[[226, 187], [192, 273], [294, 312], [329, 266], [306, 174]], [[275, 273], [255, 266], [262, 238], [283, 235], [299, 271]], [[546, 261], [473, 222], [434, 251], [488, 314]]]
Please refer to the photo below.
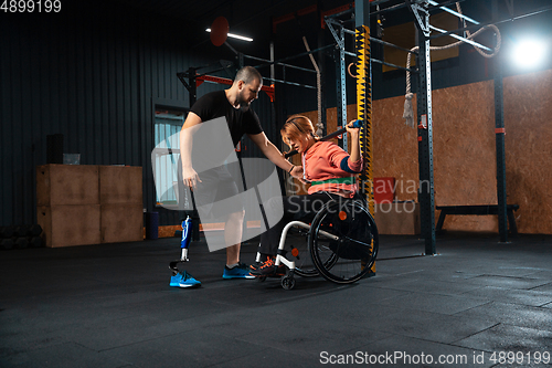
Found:
[[142, 240], [141, 167], [36, 167], [36, 217], [46, 246]]

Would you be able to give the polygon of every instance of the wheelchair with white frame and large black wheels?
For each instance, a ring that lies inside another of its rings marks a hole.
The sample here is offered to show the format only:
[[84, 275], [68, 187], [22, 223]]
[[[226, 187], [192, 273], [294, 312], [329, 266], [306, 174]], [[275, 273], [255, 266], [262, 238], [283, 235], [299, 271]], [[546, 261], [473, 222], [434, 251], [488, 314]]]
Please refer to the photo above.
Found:
[[[307, 241], [286, 242], [288, 232], [298, 229]], [[289, 243], [289, 244], [287, 244]], [[328, 201], [312, 222], [291, 221], [284, 227], [275, 260], [276, 269], [284, 264], [286, 275], [280, 283], [293, 290], [295, 275], [323, 278], [337, 284], [351, 284], [371, 272], [379, 250], [378, 227], [361, 200]], [[257, 262], [261, 254], [257, 253]], [[276, 275], [258, 276], [259, 281]]]

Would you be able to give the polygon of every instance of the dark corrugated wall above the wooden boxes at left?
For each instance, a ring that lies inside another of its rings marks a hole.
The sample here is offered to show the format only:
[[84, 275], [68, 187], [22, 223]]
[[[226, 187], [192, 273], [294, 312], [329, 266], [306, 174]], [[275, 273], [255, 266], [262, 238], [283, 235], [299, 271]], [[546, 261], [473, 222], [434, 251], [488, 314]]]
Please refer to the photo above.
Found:
[[213, 60], [185, 49], [177, 19], [112, 2], [63, 7], [0, 14], [0, 225], [35, 222], [34, 168], [46, 164], [50, 134], [83, 165], [142, 166], [153, 210], [152, 102], [188, 104], [177, 72]]

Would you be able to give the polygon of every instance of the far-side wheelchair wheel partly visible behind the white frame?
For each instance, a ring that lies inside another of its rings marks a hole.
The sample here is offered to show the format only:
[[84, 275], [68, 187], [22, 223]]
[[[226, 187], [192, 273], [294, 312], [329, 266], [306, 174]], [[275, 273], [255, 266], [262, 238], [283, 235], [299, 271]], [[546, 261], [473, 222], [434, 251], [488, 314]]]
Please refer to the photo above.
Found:
[[305, 229], [294, 230], [288, 232], [288, 241], [286, 242], [285, 250], [287, 251], [286, 257], [295, 262], [295, 273], [302, 277], [318, 276], [318, 270], [312, 263], [310, 256], [309, 242]]

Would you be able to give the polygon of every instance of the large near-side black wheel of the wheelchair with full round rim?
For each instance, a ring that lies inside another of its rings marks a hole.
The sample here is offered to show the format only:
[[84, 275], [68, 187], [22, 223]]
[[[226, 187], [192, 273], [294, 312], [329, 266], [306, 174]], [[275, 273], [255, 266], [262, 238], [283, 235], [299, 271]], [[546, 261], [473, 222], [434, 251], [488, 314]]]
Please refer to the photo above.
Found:
[[367, 275], [375, 262], [378, 228], [361, 201], [331, 200], [312, 221], [309, 246], [326, 280], [350, 284]]

